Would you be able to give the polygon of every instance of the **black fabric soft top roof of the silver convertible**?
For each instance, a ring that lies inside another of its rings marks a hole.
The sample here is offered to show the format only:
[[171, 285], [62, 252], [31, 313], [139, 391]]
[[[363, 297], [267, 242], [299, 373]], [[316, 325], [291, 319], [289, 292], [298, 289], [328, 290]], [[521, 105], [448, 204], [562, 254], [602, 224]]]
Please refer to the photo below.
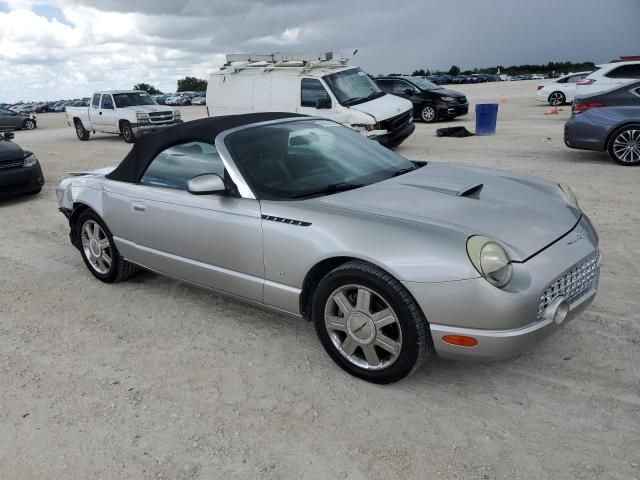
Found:
[[185, 142], [213, 143], [221, 132], [244, 125], [282, 118], [304, 117], [297, 113], [266, 112], [202, 118], [163, 128], [136, 141], [120, 165], [106, 177], [120, 182], [137, 183], [151, 161], [163, 150]]

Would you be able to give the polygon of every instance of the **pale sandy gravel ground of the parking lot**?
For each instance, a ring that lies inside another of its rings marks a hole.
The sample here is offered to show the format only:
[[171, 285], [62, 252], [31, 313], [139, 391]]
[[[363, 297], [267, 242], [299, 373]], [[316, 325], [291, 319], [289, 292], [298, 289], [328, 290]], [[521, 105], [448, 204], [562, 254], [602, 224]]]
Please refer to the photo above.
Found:
[[16, 141], [46, 186], [0, 202], [0, 479], [640, 478], [640, 168], [565, 148], [570, 109], [545, 116], [535, 84], [460, 86], [504, 96], [497, 135], [418, 124], [399, 152], [570, 184], [600, 233], [598, 297], [515, 360], [390, 386], [339, 370], [304, 321], [150, 273], [95, 280], [54, 187], [129, 146], [40, 115]]

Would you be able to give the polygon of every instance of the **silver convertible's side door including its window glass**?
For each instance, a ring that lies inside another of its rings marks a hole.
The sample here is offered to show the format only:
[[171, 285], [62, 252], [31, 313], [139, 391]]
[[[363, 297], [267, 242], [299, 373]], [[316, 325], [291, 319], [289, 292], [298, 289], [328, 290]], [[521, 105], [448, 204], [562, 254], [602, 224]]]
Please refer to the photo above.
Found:
[[194, 195], [189, 179], [225, 176], [215, 146], [187, 142], [159, 153], [140, 183], [109, 181], [105, 222], [125, 258], [195, 284], [262, 301], [260, 205], [232, 194]]

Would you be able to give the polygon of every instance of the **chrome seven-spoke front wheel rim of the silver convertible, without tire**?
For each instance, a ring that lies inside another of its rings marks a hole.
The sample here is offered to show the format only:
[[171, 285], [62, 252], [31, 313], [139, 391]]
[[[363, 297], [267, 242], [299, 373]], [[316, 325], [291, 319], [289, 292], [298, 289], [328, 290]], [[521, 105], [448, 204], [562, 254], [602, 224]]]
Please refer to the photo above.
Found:
[[392, 365], [402, 350], [398, 316], [377, 292], [362, 285], [344, 285], [329, 295], [324, 324], [336, 350], [365, 370]]

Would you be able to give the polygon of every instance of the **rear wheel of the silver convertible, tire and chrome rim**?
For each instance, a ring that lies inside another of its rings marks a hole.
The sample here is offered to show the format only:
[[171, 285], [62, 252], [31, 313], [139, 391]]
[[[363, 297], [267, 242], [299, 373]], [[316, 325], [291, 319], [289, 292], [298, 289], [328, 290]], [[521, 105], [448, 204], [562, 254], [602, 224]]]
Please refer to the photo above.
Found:
[[93, 210], [82, 212], [75, 225], [82, 260], [98, 280], [116, 283], [138, 272], [137, 265], [120, 256], [111, 232]]

